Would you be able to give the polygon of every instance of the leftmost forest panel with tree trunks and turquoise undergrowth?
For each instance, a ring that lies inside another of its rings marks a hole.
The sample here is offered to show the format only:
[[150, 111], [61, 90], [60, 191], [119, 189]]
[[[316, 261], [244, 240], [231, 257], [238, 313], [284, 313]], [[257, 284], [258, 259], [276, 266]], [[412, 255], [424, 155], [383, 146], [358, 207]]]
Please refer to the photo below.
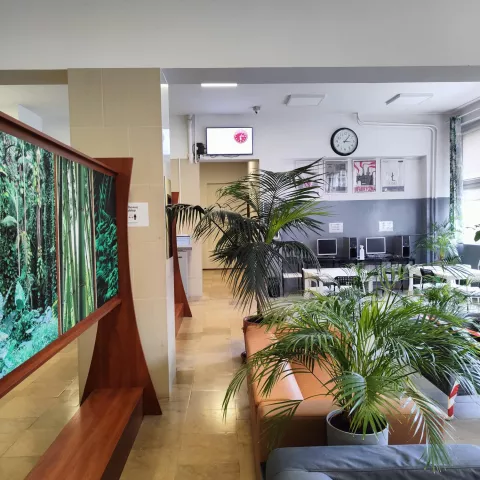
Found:
[[0, 378], [58, 337], [53, 155], [0, 132]]

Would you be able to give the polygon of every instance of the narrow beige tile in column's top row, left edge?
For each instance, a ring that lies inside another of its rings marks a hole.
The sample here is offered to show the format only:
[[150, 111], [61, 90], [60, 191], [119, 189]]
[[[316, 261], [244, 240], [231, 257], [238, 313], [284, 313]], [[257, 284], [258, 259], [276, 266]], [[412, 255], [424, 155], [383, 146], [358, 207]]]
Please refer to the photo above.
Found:
[[70, 126], [103, 126], [102, 74], [99, 69], [68, 70]]

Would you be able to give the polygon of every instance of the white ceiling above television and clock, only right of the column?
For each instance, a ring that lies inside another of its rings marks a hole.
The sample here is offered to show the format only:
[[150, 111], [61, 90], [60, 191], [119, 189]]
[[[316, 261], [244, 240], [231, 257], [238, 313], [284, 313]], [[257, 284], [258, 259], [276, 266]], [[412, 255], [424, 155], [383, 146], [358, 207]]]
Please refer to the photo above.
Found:
[[[202, 88], [199, 84], [169, 86], [170, 113], [174, 115], [246, 114], [260, 105], [262, 113], [314, 110], [319, 114], [427, 114], [447, 113], [480, 97], [480, 82], [444, 83], [292, 83], [239, 84], [237, 88]], [[398, 93], [431, 93], [419, 105], [387, 106]], [[318, 107], [288, 108], [291, 94], [325, 95]]]

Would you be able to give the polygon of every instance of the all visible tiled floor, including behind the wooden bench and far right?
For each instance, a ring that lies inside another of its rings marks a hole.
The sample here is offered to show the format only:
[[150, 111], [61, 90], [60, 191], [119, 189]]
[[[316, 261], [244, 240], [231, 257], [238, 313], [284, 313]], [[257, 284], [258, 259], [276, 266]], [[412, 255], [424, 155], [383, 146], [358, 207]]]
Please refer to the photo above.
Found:
[[[225, 389], [240, 364], [242, 316], [218, 272], [204, 273], [177, 337], [177, 378], [160, 417], [145, 417], [123, 480], [253, 480], [246, 390], [223, 418]], [[446, 396], [423, 389], [440, 403]], [[0, 479], [22, 480], [78, 409], [72, 344], [0, 399]], [[480, 445], [480, 398], [459, 397], [449, 442]]]

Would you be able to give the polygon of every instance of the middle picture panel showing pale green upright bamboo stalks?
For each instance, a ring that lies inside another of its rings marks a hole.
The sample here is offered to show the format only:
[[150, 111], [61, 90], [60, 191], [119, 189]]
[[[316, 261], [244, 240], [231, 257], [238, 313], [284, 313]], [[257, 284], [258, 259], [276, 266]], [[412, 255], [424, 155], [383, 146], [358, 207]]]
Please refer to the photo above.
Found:
[[93, 172], [57, 159], [62, 333], [95, 310]]

